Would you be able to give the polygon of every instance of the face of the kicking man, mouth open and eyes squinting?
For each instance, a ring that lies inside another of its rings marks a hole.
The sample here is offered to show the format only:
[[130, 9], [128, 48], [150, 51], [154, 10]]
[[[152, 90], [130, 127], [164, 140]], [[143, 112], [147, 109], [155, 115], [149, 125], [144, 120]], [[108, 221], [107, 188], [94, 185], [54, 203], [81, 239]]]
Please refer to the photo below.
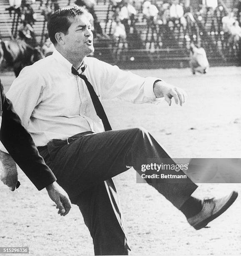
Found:
[[93, 53], [93, 33], [88, 17], [79, 15], [76, 20], [73, 20], [64, 40], [65, 51], [72, 56], [84, 57]]

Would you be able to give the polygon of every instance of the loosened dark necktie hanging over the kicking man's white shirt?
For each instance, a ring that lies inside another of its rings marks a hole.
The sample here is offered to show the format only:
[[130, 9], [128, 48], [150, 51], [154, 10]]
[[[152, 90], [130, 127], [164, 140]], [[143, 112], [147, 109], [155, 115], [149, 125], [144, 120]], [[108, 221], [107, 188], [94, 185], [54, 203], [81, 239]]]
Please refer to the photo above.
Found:
[[102, 104], [99, 100], [99, 97], [96, 95], [92, 84], [90, 84], [90, 82], [88, 81], [87, 77], [85, 77], [85, 75], [79, 74], [74, 67], [72, 67], [71, 71], [72, 71], [72, 74], [74, 74], [75, 76], [80, 77], [81, 79], [83, 79], [85, 81], [85, 84], [86, 84], [86, 86], [88, 88], [88, 91], [90, 93], [91, 100], [92, 100], [93, 105], [95, 107], [95, 112], [98, 115], [98, 117], [102, 120], [105, 131], [112, 130], [112, 128], [110, 126], [110, 123], [109, 123], [109, 120], [108, 120], [108, 118], [105, 114], [105, 110], [104, 110], [104, 108], [103, 108], [103, 106], [102, 106]]

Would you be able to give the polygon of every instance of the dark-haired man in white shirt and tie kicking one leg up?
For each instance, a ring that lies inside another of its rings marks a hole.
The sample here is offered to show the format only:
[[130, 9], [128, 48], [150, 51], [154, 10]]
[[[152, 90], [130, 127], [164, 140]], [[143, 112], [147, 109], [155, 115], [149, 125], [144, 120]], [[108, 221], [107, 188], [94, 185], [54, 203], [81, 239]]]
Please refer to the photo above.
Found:
[[[183, 105], [185, 92], [159, 78], [139, 77], [87, 57], [94, 51], [93, 34], [83, 8], [56, 11], [48, 33], [55, 45], [53, 55], [24, 68], [8, 97], [58, 183], [80, 208], [95, 254], [126, 255], [123, 216], [111, 178], [130, 166], [143, 174], [141, 166], [150, 159], [156, 164], [175, 163], [145, 129], [111, 131], [100, 100], [144, 103], [164, 97], [169, 105], [172, 98]], [[168, 174], [176, 171], [169, 169]], [[188, 177], [146, 180], [195, 229], [204, 228], [237, 197], [232, 192], [219, 200], [201, 201], [191, 196], [197, 186]]]

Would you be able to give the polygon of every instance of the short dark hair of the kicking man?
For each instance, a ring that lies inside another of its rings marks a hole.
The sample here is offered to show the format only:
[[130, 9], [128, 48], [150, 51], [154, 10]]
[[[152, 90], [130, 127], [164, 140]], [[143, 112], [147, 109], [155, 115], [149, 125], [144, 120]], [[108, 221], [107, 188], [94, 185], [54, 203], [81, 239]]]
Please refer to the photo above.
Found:
[[56, 45], [57, 41], [55, 39], [55, 34], [62, 32], [65, 35], [68, 33], [68, 29], [71, 26], [73, 20], [75, 20], [78, 15], [87, 14], [88, 11], [83, 7], [74, 5], [71, 8], [61, 8], [51, 14], [48, 21], [48, 35], [50, 41]]

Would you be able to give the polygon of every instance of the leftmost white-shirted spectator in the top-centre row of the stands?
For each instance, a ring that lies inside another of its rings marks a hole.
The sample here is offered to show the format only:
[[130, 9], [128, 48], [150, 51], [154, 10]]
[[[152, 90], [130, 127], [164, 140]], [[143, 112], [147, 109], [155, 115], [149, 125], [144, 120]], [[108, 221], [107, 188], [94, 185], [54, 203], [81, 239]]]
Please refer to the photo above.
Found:
[[121, 23], [125, 26], [126, 34], [130, 33], [130, 25], [133, 24], [137, 12], [136, 9], [128, 2], [124, 2], [121, 7], [120, 12], [118, 13], [118, 18], [121, 20]]

